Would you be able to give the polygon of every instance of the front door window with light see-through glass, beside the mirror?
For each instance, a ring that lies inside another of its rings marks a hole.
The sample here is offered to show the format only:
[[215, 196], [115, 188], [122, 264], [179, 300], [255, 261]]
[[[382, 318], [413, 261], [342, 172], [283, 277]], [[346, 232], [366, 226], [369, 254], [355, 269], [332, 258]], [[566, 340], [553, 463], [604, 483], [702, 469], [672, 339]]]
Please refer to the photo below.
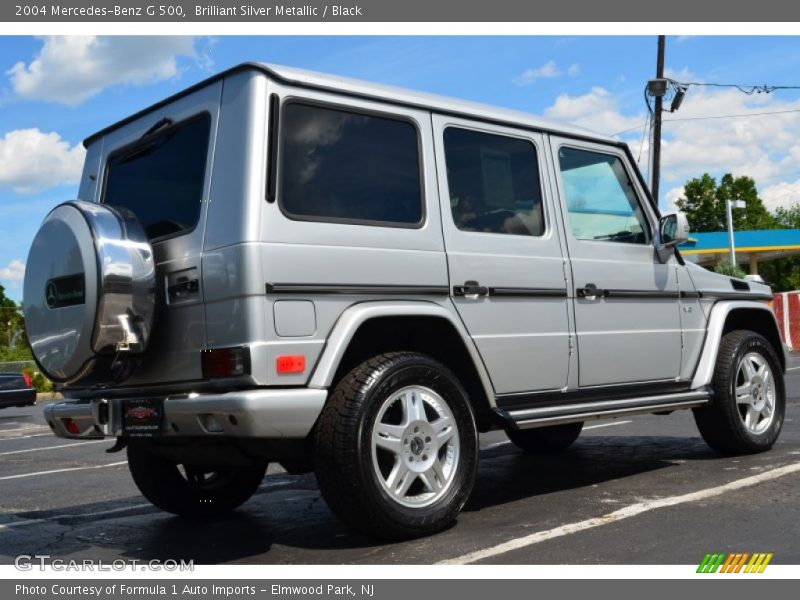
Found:
[[617, 156], [562, 147], [558, 159], [576, 239], [649, 243], [647, 219]]

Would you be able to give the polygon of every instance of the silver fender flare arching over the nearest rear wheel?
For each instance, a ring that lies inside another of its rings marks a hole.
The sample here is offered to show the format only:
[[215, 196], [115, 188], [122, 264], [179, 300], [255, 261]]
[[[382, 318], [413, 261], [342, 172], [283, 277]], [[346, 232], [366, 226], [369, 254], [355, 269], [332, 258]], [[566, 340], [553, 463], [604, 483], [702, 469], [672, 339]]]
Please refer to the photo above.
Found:
[[483, 385], [486, 397], [492, 408], [495, 407], [494, 388], [491, 379], [486, 371], [486, 366], [478, 354], [472, 338], [469, 337], [463, 323], [456, 315], [447, 310], [441, 304], [424, 301], [375, 301], [354, 304], [345, 310], [333, 327], [333, 331], [328, 336], [325, 348], [322, 351], [319, 361], [308, 382], [308, 387], [328, 388], [333, 383], [333, 377], [339, 362], [342, 360], [350, 340], [358, 331], [358, 328], [370, 319], [378, 317], [437, 317], [445, 319], [458, 332], [461, 341], [469, 352], [478, 377]]

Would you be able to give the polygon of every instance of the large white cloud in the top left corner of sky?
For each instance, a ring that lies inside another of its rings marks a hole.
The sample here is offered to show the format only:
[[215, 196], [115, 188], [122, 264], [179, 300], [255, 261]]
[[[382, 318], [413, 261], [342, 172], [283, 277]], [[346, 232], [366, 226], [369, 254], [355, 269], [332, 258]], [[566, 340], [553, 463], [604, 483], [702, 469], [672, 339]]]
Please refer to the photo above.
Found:
[[18, 96], [74, 106], [107, 87], [174, 77], [177, 58], [195, 56], [193, 46], [184, 36], [52, 36], [7, 75]]

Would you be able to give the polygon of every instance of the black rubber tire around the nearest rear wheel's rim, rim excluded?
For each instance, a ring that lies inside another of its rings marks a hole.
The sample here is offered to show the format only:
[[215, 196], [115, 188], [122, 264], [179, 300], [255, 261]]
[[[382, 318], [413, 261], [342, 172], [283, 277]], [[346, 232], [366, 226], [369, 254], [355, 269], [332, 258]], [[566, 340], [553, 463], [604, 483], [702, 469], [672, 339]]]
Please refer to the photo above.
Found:
[[[442, 396], [460, 435], [457, 479], [423, 508], [391, 499], [372, 465], [372, 426], [382, 401], [411, 384]], [[386, 539], [428, 535], [451, 523], [472, 489], [478, 458], [475, 419], [463, 387], [444, 365], [414, 352], [381, 354], [342, 378], [320, 416], [315, 447], [317, 480], [331, 510], [352, 527]]]

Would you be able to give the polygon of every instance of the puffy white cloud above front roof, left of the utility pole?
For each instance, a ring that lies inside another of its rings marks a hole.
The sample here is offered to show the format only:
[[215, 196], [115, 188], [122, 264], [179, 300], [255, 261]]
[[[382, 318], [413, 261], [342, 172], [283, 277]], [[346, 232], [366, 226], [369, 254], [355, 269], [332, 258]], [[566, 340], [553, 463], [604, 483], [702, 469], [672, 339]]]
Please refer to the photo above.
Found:
[[607, 134], [630, 129], [644, 122], [642, 116], [622, 115], [617, 106], [617, 99], [601, 87], [593, 87], [583, 96], [561, 94], [552, 106], [545, 109], [544, 114], [549, 119]]

